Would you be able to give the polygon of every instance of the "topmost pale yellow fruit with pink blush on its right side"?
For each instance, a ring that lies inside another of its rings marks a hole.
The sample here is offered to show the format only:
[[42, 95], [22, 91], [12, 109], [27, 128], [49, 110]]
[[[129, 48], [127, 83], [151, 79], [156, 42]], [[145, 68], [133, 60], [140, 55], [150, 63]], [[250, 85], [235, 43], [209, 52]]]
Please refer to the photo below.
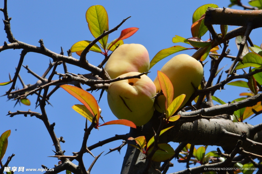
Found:
[[105, 70], [113, 79], [128, 72], [148, 72], [149, 54], [141, 44], [123, 44], [108, 59]]

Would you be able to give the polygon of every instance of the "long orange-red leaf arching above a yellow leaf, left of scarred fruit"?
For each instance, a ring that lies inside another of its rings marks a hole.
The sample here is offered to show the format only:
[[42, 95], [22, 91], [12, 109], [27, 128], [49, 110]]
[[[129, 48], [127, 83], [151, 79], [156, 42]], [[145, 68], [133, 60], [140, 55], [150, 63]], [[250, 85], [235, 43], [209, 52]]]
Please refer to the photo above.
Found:
[[96, 115], [96, 127], [98, 127], [100, 113], [95, 97], [89, 92], [75, 86], [61, 85], [60, 87], [83, 103], [93, 116]]

